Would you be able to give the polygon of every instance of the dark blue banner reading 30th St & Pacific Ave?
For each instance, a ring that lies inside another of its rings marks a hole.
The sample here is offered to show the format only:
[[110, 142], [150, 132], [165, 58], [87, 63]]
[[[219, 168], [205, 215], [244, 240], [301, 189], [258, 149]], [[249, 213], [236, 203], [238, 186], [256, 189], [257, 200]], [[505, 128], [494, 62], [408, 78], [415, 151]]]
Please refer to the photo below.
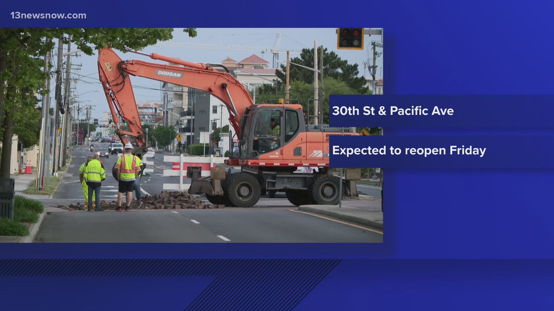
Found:
[[[331, 126], [554, 128], [554, 96], [551, 95], [330, 95], [330, 106]], [[363, 115], [366, 106], [375, 108], [374, 115]], [[428, 115], [399, 115], [399, 111], [391, 115], [391, 106], [398, 110], [420, 106], [420, 110], [428, 109], [425, 111]], [[432, 115], [435, 106], [444, 112], [452, 108], [453, 115]], [[358, 114], [342, 107], [357, 108]], [[384, 107], [386, 115], [379, 115], [379, 107]], [[337, 110], [338, 114], [334, 115]]]

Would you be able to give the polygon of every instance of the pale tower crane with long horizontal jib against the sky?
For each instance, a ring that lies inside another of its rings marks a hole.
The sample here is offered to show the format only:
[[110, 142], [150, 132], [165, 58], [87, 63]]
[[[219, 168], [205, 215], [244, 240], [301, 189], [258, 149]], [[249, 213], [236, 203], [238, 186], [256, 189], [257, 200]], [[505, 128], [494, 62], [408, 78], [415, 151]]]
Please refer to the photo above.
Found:
[[183, 42], [160, 42], [156, 46], [164, 48], [186, 48], [186, 49], [210, 49], [210, 50], [232, 50], [232, 51], [260, 51], [261, 53], [270, 52], [273, 54], [273, 68], [277, 68], [279, 63], [279, 53], [301, 53], [299, 49], [283, 49], [281, 50], [281, 37], [283, 34], [276, 34], [273, 48], [265, 48], [262, 46], [244, 46], [235, 44], [202, 44], [202, 43], [183, 43]]

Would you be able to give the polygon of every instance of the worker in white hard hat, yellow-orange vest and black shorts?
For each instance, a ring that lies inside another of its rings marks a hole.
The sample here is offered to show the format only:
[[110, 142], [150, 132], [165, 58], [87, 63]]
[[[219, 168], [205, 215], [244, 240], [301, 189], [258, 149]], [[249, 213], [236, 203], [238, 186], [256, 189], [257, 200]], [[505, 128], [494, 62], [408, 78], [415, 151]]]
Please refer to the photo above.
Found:
[[119, 191], [117, 192], [117, 211], [122, 211], [123, 194], [125, 193], [125, 211], [131, 209], [133, 199], [133, 188], [135, 180], [141, 172], [142, 161], [136, 155], [132, 155], [133, 145], [125, 144], [124, 154], [117, 157], [115, 168], [117, 169], [117, 181], [119, 182]]

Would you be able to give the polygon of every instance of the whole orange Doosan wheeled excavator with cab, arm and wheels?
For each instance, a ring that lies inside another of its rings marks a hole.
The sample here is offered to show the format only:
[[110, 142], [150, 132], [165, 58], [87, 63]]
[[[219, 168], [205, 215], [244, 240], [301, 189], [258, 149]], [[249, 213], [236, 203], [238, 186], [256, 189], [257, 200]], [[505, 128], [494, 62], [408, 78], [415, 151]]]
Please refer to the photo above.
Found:
[[[356, 180], [361, 177], [360, 169], [347, 169], [344, 179], [334, 176], [329, 169], [329, 137], [357, 135], [353, 128], [307, 125], [302, 106], [283, 100], [257, 105], [244, 85], [223, 65], [131, 52], [178, 64], [121, 60], [110, 48], [99, 50], [98, 72], [117, 128], [116, 134], [122, 144], [128, 142], [127, 137], [135, 139], [134, 154], [142, 157], [148, 146], [131, 75], [202, 90], [216, 96], [229, 111], [229, 122], [239, 143], [236, 148], [233, 146], [230, 132], [230, 158], [225, 164], [240, 167], [240, 172], [231, 173], [230, 169], [216, 167], [211, 168], [209, 177], [201, 177], [200, 167], [188, 167], [187, 177], [191, 178], [189, 193], [206, 194], [212, 204], [243, 208], [257, 204], [262, 191], [285, 191], [290, 203], [297, 206], [336, 205], [341, 194], [358, 196]], [[121, 122], [127, 123], [129, 131], [120, 126]], [[296, 173], [299, 167], [317, 169], [311, 173]]]

